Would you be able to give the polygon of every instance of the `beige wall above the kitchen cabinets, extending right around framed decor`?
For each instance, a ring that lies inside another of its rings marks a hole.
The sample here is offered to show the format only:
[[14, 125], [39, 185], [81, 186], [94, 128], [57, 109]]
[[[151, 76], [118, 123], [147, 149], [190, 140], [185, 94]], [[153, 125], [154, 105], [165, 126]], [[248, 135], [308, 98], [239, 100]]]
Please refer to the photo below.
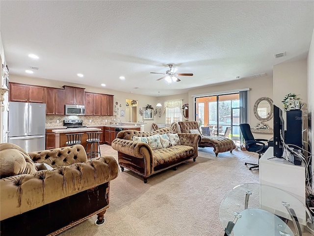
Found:
[[[33, 78], [33, 77], [23, 77], [18, 75], [10, 75], [10, 82], [16, 82], [16, 83], [23, 83], [23, 84], [29, 84], [29, 85], [39, 85], [39, 86], [47, 86], [47, 87], [53, 87], [53, 88], [62, 88], [64, 85], [68, 86], [74, 86], [74, 87], [80, 87], [85, 88], [86, 92], [97, 92], [97, 93], [105, 93], [105, 94], [112, 94], [113, 97], [113, 103], [115, 105], [116, 102], [118, 102], [117, 108], [119, 108], [119, 114], [114, 113], [117, 118], [120, 118], [120, 111], [125, 110], [126, 111], [126, 99], [134, 99], [138, 100], [138, 109], [146, 106], [147, 104], [155, 105], [157, 104], [157, 97], [152, 96], [146, 96], [146, 95], [140, 95], [136, 93], [128, 93], [128, 92], [120, 92], [105, 88], [96, 88], [96, 87], [89, 87], [89, 86], [82, 86], [78, 84], [71, 84], [66, 83], [62, 81], [54, 81], [54, 80], [45, 80], [40, 78]], [[160, 100], [160, 98], [159, 98]], [[120, 107], [121, 104], [121, 107]], [[143, 121], [142, 117], [139, 115], [139, 111], [137, 111], [137, 121]], [[155, 119], [156, 120], [156, 119]], [[122, 122], [129, 121], [127, 117], [121, 117]], [[152, 123], [154, 120], [145, 120], [145, 131], [151, 131]], [[156, 121], [155, 121], [156, 122]]]

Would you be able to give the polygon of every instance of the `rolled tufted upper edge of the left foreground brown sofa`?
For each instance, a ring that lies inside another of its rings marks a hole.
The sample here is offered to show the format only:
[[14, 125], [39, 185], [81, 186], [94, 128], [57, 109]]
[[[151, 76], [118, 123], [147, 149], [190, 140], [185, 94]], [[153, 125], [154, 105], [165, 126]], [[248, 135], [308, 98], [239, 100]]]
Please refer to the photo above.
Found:
[[[0, 179], [0, 220], [55, 202], [116, 178], [112, 156]], [[79, 207], [79, 206], [78, 206]]]

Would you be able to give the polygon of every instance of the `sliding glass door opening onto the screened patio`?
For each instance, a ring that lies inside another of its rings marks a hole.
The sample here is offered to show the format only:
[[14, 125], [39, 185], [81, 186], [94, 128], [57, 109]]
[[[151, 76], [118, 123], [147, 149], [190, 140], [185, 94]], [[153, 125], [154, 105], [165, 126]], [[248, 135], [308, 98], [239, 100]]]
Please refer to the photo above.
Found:
[[239, 140], [239, 93], [195, 98], [195, 120], [210, 136]]

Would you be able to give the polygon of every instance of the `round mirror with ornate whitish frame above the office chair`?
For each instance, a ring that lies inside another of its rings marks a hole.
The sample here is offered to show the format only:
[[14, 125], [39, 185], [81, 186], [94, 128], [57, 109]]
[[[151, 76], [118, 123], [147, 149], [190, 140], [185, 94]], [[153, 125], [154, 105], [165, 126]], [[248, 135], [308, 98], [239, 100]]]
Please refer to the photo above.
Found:
[[261, 121], [273, 118], [273, 100], [269, 97], [259, 98], [254, 104], [254, 115]]

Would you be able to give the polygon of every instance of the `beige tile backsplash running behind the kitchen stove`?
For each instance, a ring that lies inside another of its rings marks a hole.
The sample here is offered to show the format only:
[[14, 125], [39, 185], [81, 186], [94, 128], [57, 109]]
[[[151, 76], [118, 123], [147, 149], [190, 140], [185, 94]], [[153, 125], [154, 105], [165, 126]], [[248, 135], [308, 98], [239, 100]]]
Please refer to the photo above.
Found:
[[[46, 116], [46, 127], [63, 126], [64, 119], [82, 119], [83, 125], [104, 125], [113, 122], [114, 118], [116, 116]], [[57, 123], [57, 120], [59, 120], [59, 123]], [[89, 120], [92, 122], [89, 122]]]

